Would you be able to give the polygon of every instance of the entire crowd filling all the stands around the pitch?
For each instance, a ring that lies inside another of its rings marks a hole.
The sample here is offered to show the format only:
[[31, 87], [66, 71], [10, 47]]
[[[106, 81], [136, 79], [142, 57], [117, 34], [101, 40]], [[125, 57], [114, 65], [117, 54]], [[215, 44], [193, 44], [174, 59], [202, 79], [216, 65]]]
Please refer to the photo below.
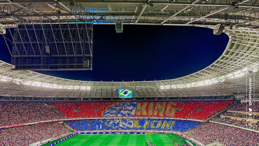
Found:
[[[88, 117], [142, 117], [139, 119], [99, 119], [66, 121], [76, 131], [95, 130], [156, 130], [185, 132], [204, 144], [215, 140], [225, 146], [259, 146], [258, 133], [222, 124], [188, 120], [170, 120], [168, 117], [204, 120], [231, 105], [233, 101], [181, 101], [181, 102], [15, 102], [0, 103], [0, 126], [18, 123]], [[258, 105], [259, 102], [256, 102]], [[245, 111], [246, 103], [229, 110]], [[255, 112], [259, 111], [258, 106]], [[227, 112], [223, 115], [244, 117], [246, 114]], [[143, 119], [143, 117], [160, 117]], [[258, 118], [258, 116], [257, 116]], [[213, 118], [212, 121], [246, 127], [246, 121]], [[251, 129], [259, 130], [253, 123]], [[29, 144], [69, 133], [58, 122], [31, 124], [0, 129], [0, 146], [28, 146]]]

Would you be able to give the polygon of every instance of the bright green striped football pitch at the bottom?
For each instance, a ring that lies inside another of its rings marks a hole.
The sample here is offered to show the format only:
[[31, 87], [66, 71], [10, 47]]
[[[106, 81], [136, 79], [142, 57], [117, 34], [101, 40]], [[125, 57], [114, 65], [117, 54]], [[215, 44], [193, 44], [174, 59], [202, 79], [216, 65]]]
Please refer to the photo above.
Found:
[[[147, 146], [147, 140], [156, 146], [173, 146], [179, 136], [169, 134], [89, 134], [75, 135], [55, 146]], [[173, 139], [173, 141], [171, 141]], [[185, 139], [181, 142], [184, 144]], [[53, 142], [48, 143], [51, 144]], [[195, 144], [193, 144], [195, 145]]]

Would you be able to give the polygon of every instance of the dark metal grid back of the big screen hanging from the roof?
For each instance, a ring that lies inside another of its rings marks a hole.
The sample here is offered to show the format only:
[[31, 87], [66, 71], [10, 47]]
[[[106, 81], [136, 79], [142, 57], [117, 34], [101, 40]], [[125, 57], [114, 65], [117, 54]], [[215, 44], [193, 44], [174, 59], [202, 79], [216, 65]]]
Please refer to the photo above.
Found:
[[14, 28], [13, 70], [92, 69], [92, 23], [20, 24]]

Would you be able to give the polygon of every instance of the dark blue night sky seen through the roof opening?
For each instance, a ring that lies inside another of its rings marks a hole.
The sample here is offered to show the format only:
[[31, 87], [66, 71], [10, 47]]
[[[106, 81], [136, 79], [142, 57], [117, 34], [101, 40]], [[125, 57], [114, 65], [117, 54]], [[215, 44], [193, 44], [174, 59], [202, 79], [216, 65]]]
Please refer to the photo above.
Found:
[[[0, 60], [11, 55], [2, 44]], [[226, 34], [192, 26], [114, 25], [93, 27], [92, 71], [38, 71], [56, 77], [89, 81], [146, 81], [183, 77], [212, 64], [225, 50]]]

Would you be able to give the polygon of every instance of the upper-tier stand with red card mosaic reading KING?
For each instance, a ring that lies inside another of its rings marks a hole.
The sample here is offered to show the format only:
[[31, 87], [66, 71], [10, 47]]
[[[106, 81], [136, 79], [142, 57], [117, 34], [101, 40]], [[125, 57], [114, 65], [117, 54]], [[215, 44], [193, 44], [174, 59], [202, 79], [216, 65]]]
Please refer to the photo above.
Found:
[[67, 118], [88, 117], [174, 117], [205, 120], [233, 101], [179, 102], [53, 102]]

